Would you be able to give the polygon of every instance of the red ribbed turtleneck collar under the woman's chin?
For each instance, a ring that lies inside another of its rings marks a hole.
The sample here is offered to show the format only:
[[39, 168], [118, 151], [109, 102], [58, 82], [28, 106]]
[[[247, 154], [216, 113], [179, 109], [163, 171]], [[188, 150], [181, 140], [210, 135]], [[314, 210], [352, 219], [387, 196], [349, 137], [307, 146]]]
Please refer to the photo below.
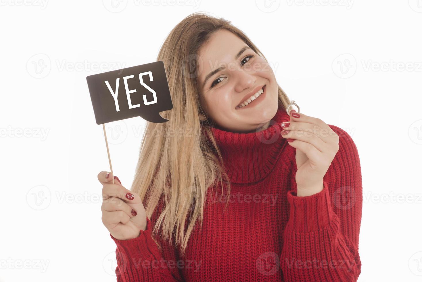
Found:
[[211, 127], [232, 183], [257, 182], [273, 170], [287, 144], [287, 140], [280, 135], [280, 124], [288, 121], [289, 115], [279, 106], [270, 126], [259, 132], [233, 133]]

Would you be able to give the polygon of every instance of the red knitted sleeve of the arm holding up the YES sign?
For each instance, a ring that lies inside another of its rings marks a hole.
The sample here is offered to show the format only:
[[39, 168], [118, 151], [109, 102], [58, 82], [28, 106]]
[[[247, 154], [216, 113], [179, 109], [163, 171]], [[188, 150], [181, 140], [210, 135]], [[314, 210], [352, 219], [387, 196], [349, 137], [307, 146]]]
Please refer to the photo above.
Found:
[[146, 230], [135, 239], [118, 240], [116, 248], [117, 282], [182, 281], [175, 250], [161, 241], [161, 251], [151, 236], [153, 222], [146, 219]]

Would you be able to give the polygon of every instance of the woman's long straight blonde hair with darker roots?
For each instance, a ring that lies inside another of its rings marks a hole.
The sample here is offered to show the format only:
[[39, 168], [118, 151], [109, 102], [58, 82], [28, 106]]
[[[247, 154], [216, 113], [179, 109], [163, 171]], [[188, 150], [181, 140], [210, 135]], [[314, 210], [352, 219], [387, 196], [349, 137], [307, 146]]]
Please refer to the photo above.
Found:
[[[181, 253], [186, 251], [195, 223], [202, 225], [208, 187], [219, 183], [230, 193], [230, 181], [210, 128], [215, 124], [201, 106], [197, 69], [192, 72], [200, 47], [210, 35], [223, 29], [237, 35], [265, 59], [228, 20], [194, 13], [177, 24], [157, 57], [165, 65], [173, 109], [161, 113], [168, 122], [146, 122], [132, 184], [132, 190], [141, 196], [147, 217], [154, 216], [153, 235], [173, 240]], [[278, 89], [279, 106], [285, 109], [289, 99], [281, 87]]]

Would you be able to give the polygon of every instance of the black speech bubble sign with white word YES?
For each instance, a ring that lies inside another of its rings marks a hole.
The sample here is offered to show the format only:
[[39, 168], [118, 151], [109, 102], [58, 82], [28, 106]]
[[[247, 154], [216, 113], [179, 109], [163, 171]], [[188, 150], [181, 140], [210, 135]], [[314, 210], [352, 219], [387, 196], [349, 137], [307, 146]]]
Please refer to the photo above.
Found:
[[168, 121], [159, 114], [173, 108], [163, 61], [87, 76], [87, 82], [98, 125], [138, 116]]

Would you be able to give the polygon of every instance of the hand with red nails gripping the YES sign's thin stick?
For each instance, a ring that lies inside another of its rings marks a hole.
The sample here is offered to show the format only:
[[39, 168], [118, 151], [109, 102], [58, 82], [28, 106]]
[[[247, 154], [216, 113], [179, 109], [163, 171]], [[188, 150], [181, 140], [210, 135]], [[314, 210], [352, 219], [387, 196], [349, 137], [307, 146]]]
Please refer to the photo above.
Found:
[[101, 171], [98, 180], [103, 184], [103, 212], [104, 226], [111, 236], [118, 240], [134, 239], [140, 230], [146, 229], [146, 212], [139, 195], [132, 193], [122, 186], [119, 179], [111, 173]]

